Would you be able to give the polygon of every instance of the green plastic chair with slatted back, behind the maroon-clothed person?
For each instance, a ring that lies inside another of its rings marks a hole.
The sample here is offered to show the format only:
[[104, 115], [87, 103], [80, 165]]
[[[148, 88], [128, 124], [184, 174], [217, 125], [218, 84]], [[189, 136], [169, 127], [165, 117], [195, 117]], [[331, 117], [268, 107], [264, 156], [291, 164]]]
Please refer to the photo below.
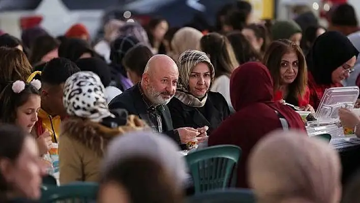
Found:
[[241, 148], [219, 145], [197, 150], [185, 156], [194, 179], [195, 194], [223, 189], [229, 184], [231, 173], [241, 158]]

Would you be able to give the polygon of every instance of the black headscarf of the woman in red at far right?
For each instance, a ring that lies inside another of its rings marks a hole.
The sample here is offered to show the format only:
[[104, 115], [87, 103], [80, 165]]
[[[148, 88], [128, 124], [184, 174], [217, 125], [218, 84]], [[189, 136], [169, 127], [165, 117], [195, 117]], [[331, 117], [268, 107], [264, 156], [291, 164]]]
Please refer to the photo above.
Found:
[[358, 55], [357, 49], [343, 34], [329, 31], [320, 35], [307, 55], [307, 65], [317, 84], [332, 84], [332, 73]]

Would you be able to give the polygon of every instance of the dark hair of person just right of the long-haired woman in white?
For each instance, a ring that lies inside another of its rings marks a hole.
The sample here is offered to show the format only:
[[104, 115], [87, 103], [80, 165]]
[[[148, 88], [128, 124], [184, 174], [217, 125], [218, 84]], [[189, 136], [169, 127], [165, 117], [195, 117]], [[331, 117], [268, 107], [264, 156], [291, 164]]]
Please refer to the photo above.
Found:
[[231, 32], [226, 35], [230, 41], [239, 65], [251, 61], [261, 61], [260, 54], [254, 49], [250, 42], [240, 31]]

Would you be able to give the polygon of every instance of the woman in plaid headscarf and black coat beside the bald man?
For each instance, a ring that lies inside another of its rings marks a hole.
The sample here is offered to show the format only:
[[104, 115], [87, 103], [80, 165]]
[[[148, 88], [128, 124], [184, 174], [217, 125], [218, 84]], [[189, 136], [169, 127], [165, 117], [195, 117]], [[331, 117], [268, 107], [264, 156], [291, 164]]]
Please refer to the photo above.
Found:
[[168, 103], [174, 128], [208, 127], [209, 135], [229, 114], [229, 106], [220, 93], [211, 92], [214, 67], [202, 51], [188, 50], [180, 55], [179, 81], [175, 97]]

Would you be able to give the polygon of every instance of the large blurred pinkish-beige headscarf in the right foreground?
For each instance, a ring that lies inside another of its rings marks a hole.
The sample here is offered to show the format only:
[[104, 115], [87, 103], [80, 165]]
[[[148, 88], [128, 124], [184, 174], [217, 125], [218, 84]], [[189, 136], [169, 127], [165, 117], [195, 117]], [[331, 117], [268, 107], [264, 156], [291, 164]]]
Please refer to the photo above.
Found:
[[338, 153], [322, 140], [299, 134], [276, 131], [254, 147], [248, 177], [259, 202], [339, 202]]

